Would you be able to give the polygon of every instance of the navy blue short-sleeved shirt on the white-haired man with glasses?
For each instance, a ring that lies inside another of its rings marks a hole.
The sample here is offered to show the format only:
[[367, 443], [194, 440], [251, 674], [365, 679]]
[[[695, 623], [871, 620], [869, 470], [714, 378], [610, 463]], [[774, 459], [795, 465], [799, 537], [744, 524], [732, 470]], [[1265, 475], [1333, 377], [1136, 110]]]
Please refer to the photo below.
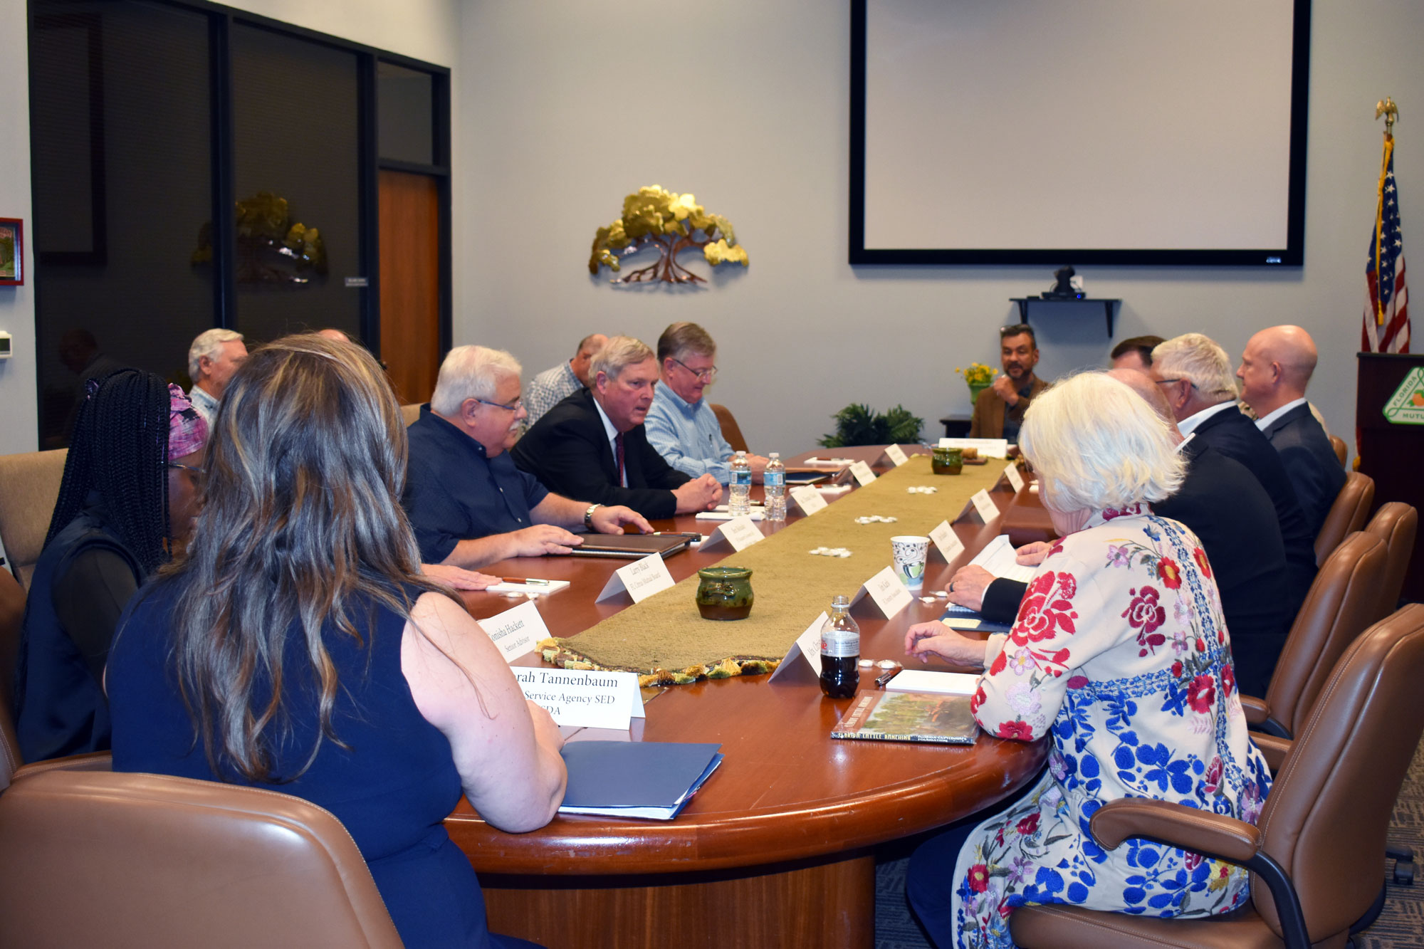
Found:
[[441, 563], [461, 540], [523, 530], [548, 497], [538, 479], [514, 466], [508, 452], [484, 446], [420, 406], [410, 423], [410, 470], [402, 504], [423, 563]]

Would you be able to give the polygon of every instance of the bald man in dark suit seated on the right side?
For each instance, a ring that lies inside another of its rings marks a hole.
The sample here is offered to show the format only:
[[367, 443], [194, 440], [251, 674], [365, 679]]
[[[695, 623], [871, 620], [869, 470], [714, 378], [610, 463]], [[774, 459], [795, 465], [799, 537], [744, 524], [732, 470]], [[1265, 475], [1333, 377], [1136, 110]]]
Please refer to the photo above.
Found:
[[1280, 453], [1312, 537], [1320, 533], [1346, 482], [1330, 436], [1306, 402], [1316, 359], [1316, 341], [1304, 329], [1272, 326], [1250, 338], [1236, 370], [1242, 402], [1252, 408], [1256, 427]]

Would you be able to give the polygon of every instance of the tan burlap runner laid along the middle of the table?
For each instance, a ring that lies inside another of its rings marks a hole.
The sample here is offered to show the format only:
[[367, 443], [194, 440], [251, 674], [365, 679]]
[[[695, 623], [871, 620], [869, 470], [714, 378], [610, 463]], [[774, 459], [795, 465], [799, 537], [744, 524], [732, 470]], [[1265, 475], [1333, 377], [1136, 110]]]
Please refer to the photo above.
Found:
[[[914, 456], [820, 513], [722, 560], [752, 570], [756, 601], [748, 618], [703, 620], [693, 601], [693, 574], [560, 644], [604, 667], [642, 671], [715, 664], [733, 655], [780, 660], [816, 614], [829, 610], [833, 596], [853, 597], [860, 584], [890, 564], [890, 537], [927, 534], [941, 520], [953, 520], [970, 496], [991, 487], [1002, 470], [1004, 462], [990, 459], [983, 466], [965, 465], [957, 477], [937, 476], [927, 455]], [[911, 494], [906, 489], [914, 484], [938, 492]], [[867, 514], [899, 520], [856, 523]], [[812, 556], [815, 547], [846, 547], [852, 556]]]

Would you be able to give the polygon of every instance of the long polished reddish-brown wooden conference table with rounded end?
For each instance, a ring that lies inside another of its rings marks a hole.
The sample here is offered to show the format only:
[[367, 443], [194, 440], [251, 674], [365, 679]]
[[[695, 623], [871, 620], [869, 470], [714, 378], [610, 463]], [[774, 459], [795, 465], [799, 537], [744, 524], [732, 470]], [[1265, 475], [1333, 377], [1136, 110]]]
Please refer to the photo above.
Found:
[[[881, 447], [837, 449], [834, 455], [874, 463]], [[1004, 462], [990, 465], [1002, 467]], [[927, 591], [943, 588], [954, 569], [998, 533], [1007, 530], [1015, 543], [1047, 536], [1048, 519], [1027, 489], [1015, 496], [1001, 480], [990, 496], [1001, 517], [988, 524], [977, 517], [956, 523], [965, 550], [948, 564], [931, 553]], [[944, 513], [947, 519], [956, 514], [958, 510]], [[793, 510], [786, 524], [763, 522], [762, 527], [765, 533], [785, 530], [799, 519]], [[658, 530], [711, 533], [713, 526], [691, 514], [654, 522]], [[666, 566], [682, 580], [726, 556], [693, 549], [674, 554]], [[550, 630], [568, 637], [628, 608], [627, 600], [594, 601], [608, 576], [625, 563], [514, 559], [486, 571], [571, 581], [567, 590], [537, 600]], [[867, 564], [866, 579], [880, 566]], [[476, 618], [517, 603], [498, 594], [466, 594]], [[926, 667], [904, 657], [904, 633], [941, 613], [943, 600], [934, 606], [914, 600], [893, 620], [857, 620], [862, 657]], [[674, 821], [560, 815], [540, 831], [504, 834], [461, 802], [446, 826], [480, 873], [490, 929], [551, 949], [666, 946], [674, 940], [871, 946], [871, 848], [994, 805], [1030, 782], [1047, 757], [1047, 740], [1024, 744], [984, 734], [967, 747], [832, 740], [832, 727], [853, 700], [823, 697], [815, 673], [797, 661], [800, 668], [789, 683], [769, 684], [766, 675], [755, 675], [651, 695], [645, 690], [646, 720], [635, 718], [632, 730], [618, 735], [718, 742], [726, 755]], [[541, 660], [531, 654], [517, 664], [540, 665]], [[873, 688], [862, 677], [862, 688], [867, 687]]]

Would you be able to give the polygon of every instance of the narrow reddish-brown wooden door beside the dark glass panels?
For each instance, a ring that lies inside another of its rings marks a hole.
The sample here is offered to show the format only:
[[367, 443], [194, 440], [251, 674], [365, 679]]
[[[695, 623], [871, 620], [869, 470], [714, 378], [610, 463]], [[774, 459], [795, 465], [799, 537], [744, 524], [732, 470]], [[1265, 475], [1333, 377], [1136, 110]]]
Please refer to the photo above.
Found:
[[429, 402], [440, 369], [440, 191], [380, 172], [380, 356], [402, 405]]

